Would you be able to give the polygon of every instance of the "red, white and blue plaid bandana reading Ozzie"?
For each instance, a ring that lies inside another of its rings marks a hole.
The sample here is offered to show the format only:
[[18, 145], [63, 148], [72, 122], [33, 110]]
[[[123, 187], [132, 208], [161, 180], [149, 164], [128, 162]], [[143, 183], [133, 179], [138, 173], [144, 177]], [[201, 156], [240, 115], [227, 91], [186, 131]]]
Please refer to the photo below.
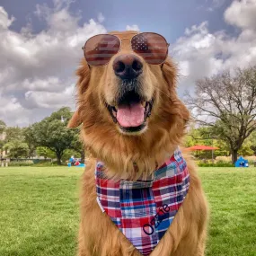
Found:
[[149, 255], [172, 224], [190, 187], [187, 164], [176, 150], [146, 181], [112, 181], [95, 170], [97, 201], [139, 252]]

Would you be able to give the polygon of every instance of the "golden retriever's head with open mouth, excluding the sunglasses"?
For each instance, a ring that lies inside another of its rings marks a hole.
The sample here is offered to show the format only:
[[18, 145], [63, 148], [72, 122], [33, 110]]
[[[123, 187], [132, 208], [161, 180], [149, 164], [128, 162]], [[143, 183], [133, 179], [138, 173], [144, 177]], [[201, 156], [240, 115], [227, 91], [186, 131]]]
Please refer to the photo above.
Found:
[[102, 66], [83, 59], [77, 71], [78, 108], [69, 127], [83, 123], [85, 145], [112, 167], [130, 161], [152, 169], [180, 143], [189, 119], [176, 94], [176, 66], [170, 57], [153, 65], [137, 54], [136, 31], [110, 34], [119, 38], [119, 51]]

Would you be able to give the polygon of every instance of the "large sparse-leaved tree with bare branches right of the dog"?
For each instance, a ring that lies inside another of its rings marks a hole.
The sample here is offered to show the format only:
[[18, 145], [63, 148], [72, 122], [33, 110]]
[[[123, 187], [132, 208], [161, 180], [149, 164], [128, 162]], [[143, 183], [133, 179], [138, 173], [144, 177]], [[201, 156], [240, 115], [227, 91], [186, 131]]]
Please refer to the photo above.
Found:
[[186, 102], [199, 124], [225, 140], [235, 163], [243, 141], [256, 129], [256, 66], [200, 79]]

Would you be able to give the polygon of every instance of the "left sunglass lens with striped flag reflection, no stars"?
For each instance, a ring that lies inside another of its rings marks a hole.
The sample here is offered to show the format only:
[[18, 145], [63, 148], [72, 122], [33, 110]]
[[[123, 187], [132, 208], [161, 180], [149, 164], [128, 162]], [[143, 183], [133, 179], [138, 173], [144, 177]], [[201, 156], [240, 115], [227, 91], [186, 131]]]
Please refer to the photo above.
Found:
[[119, 38], [113, 35], [97, 35], [86, 41], [84, 57], [90, 66], [102, 66], [119, 52]]

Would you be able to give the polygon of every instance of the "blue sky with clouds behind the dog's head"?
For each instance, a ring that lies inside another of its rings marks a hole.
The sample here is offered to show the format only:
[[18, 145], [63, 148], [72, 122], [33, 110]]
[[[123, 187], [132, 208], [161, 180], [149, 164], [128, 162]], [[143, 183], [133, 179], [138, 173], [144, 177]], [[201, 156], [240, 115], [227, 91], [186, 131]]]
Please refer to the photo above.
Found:
[[171, 43], [178, 93], [256, 65], [256, 0], [0, 0], [0, 119], [28, 126], [69, 106], [81, 47], [107, 31], [153, 31]]

